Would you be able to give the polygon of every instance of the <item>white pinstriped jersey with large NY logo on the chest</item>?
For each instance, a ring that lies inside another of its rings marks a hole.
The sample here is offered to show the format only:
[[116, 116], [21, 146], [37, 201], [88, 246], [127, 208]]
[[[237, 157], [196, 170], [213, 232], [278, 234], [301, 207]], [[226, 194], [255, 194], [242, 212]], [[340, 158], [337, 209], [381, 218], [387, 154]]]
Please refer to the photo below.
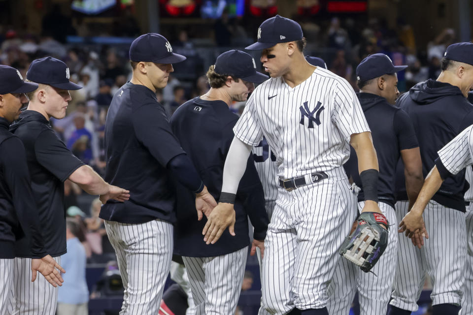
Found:
[[266, 137], [283, 178], [340, 167], [350, 155], [350, 135], [365, 131], [370, 128], [353, 89], [320, 67], [294, 88], [282, 77], [259, 85], [234, 127], [252, 146]]

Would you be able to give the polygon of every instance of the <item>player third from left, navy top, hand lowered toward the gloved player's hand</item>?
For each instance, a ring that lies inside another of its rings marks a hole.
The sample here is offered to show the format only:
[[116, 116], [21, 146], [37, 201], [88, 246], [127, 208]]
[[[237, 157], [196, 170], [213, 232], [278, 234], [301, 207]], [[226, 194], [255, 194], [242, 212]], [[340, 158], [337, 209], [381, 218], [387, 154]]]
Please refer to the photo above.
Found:
[[172, 53], [156, 33], [136, 38], [130, 47], [133, 77], [113, 96], [105, 124], [105, 180], [130, 189], [130, 200], [101, 208], [108, 238], [118, 258], [125, 287], [120, 314], [157, 314], [169, 273], [175, 221], [169, 176], [196, 193], [199, 220], [215, 199], [172, 134], [156, 99], [186, 58]]

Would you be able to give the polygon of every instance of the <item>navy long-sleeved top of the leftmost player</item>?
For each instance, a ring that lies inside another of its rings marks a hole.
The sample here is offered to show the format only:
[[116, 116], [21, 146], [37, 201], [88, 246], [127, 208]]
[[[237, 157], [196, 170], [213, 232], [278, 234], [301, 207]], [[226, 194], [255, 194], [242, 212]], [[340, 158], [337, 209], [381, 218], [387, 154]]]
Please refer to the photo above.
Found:
[[47, 252], [39, 230], [39, 216], [31, 190], [25, 147], [0, 117], [0, 259], [15, 257], [15, 240], [31, 236], [34, 258]]

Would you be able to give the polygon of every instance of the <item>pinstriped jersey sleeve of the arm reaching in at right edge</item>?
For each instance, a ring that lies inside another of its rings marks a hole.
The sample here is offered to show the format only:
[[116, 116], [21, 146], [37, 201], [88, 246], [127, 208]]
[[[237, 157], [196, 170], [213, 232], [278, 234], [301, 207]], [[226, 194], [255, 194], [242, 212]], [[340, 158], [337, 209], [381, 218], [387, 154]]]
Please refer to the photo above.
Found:
[[442, 165], [436, 160], [440, 174], [442, 166], [449, 173], [455, 175], [461, 170], [473, 164], [473, 125], [463, 130], [443, 148], [438, 151]]

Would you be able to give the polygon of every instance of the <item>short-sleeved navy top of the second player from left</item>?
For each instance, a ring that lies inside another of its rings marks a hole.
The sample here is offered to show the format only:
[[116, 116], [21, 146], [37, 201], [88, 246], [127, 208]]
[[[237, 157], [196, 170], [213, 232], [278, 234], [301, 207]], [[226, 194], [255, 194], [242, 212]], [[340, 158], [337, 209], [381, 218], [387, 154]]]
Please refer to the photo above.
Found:
[[[39, 112], [22, 112], [10, 131], [25, 146], [46, 251], [53, 257], [60, 256], [66, 253], [64, 181], [84, 163], [68, 150]], [[28, 238], [17, 242], [18, 257], [32, 257], [29, 243]]]

